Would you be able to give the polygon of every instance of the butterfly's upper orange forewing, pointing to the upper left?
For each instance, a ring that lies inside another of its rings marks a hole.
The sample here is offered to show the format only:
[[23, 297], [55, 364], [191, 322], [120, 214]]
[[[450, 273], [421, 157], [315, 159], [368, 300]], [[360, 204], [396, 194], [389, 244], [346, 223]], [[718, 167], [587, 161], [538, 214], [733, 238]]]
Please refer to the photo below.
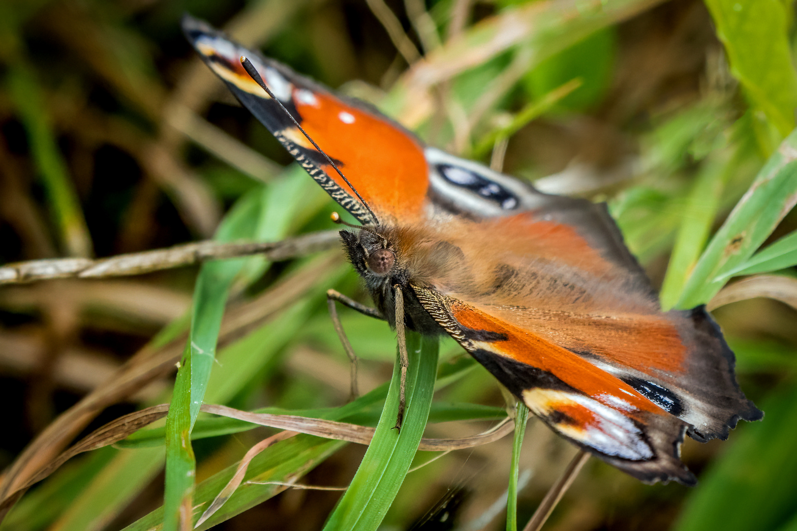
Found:
[[284, 64], [235, 44], [202, 21], [186, 16], [183, 31], [243, 106], [359, 221], [365, 225], [376, 224], [327, 159], [245, 72], [241, 66], [242, 56], [252, 61], [274, 96], [336, 162], [380, 220], [420, 219], [429, 185], [427, 166], [422, 143], [409, 131], [379, 111], [333, 95]]

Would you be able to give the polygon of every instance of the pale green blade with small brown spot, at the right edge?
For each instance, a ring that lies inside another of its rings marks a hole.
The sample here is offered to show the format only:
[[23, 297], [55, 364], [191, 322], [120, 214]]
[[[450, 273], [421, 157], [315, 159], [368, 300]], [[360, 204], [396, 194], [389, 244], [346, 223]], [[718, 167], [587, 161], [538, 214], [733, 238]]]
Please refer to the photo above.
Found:
[[714, 235], [687, 280], [678, 308], [705, 304], [720, 291], [725, 275], [744, 264], [797, 201], [797, 131], [783, 141], [748, 192]]

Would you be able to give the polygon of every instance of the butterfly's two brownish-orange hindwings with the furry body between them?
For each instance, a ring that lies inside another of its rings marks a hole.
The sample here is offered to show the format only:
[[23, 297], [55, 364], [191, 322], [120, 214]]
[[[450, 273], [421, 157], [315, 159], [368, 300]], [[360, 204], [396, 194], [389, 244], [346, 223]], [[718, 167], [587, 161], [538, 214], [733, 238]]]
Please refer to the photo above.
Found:
[[[431, 286], [614, 374], [685, 420], [697, 440], [761, 418], [736, 384], [717, 324], [703, 308], [660, 310], [605, 205], [540, 193], [432, 149], [431, 189], [481, 219], [437, 224], [434, 238], [458, 254]], [[515, 208], [497, 211], [494, 198], [509, 196]]]

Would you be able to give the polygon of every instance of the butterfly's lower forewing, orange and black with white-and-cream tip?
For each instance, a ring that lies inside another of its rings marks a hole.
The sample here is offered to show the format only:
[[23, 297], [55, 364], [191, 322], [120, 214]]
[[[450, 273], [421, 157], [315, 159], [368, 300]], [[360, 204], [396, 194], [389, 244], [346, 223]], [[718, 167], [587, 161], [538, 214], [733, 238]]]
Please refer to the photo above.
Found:
[[685, 422], [567, 349], [467, 303], [413, 289], [441, 326], [559, 435], [642, 481], [695, 482], [679, 459]]

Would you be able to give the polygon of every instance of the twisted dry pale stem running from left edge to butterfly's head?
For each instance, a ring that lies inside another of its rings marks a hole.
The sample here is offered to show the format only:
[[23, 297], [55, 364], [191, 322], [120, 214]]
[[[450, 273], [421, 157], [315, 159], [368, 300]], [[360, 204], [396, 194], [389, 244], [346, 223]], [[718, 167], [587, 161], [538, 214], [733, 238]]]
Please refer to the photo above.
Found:
[[216, 241], [200, 241], [155, 251], [112, 256], [102, 260], [81, 258], [32, 260], [0, 267], [0, 285], [69, 277], [99, 279], [109, 276], [143, 275], [152, 271], [198, 264], [206, 260], [237, 258], [260, 253], [263, 253], [268, 260], [276, 262], [333, 248], [339, 239], [337, 231], [323, 231], [265, 243], [222, 244]]

